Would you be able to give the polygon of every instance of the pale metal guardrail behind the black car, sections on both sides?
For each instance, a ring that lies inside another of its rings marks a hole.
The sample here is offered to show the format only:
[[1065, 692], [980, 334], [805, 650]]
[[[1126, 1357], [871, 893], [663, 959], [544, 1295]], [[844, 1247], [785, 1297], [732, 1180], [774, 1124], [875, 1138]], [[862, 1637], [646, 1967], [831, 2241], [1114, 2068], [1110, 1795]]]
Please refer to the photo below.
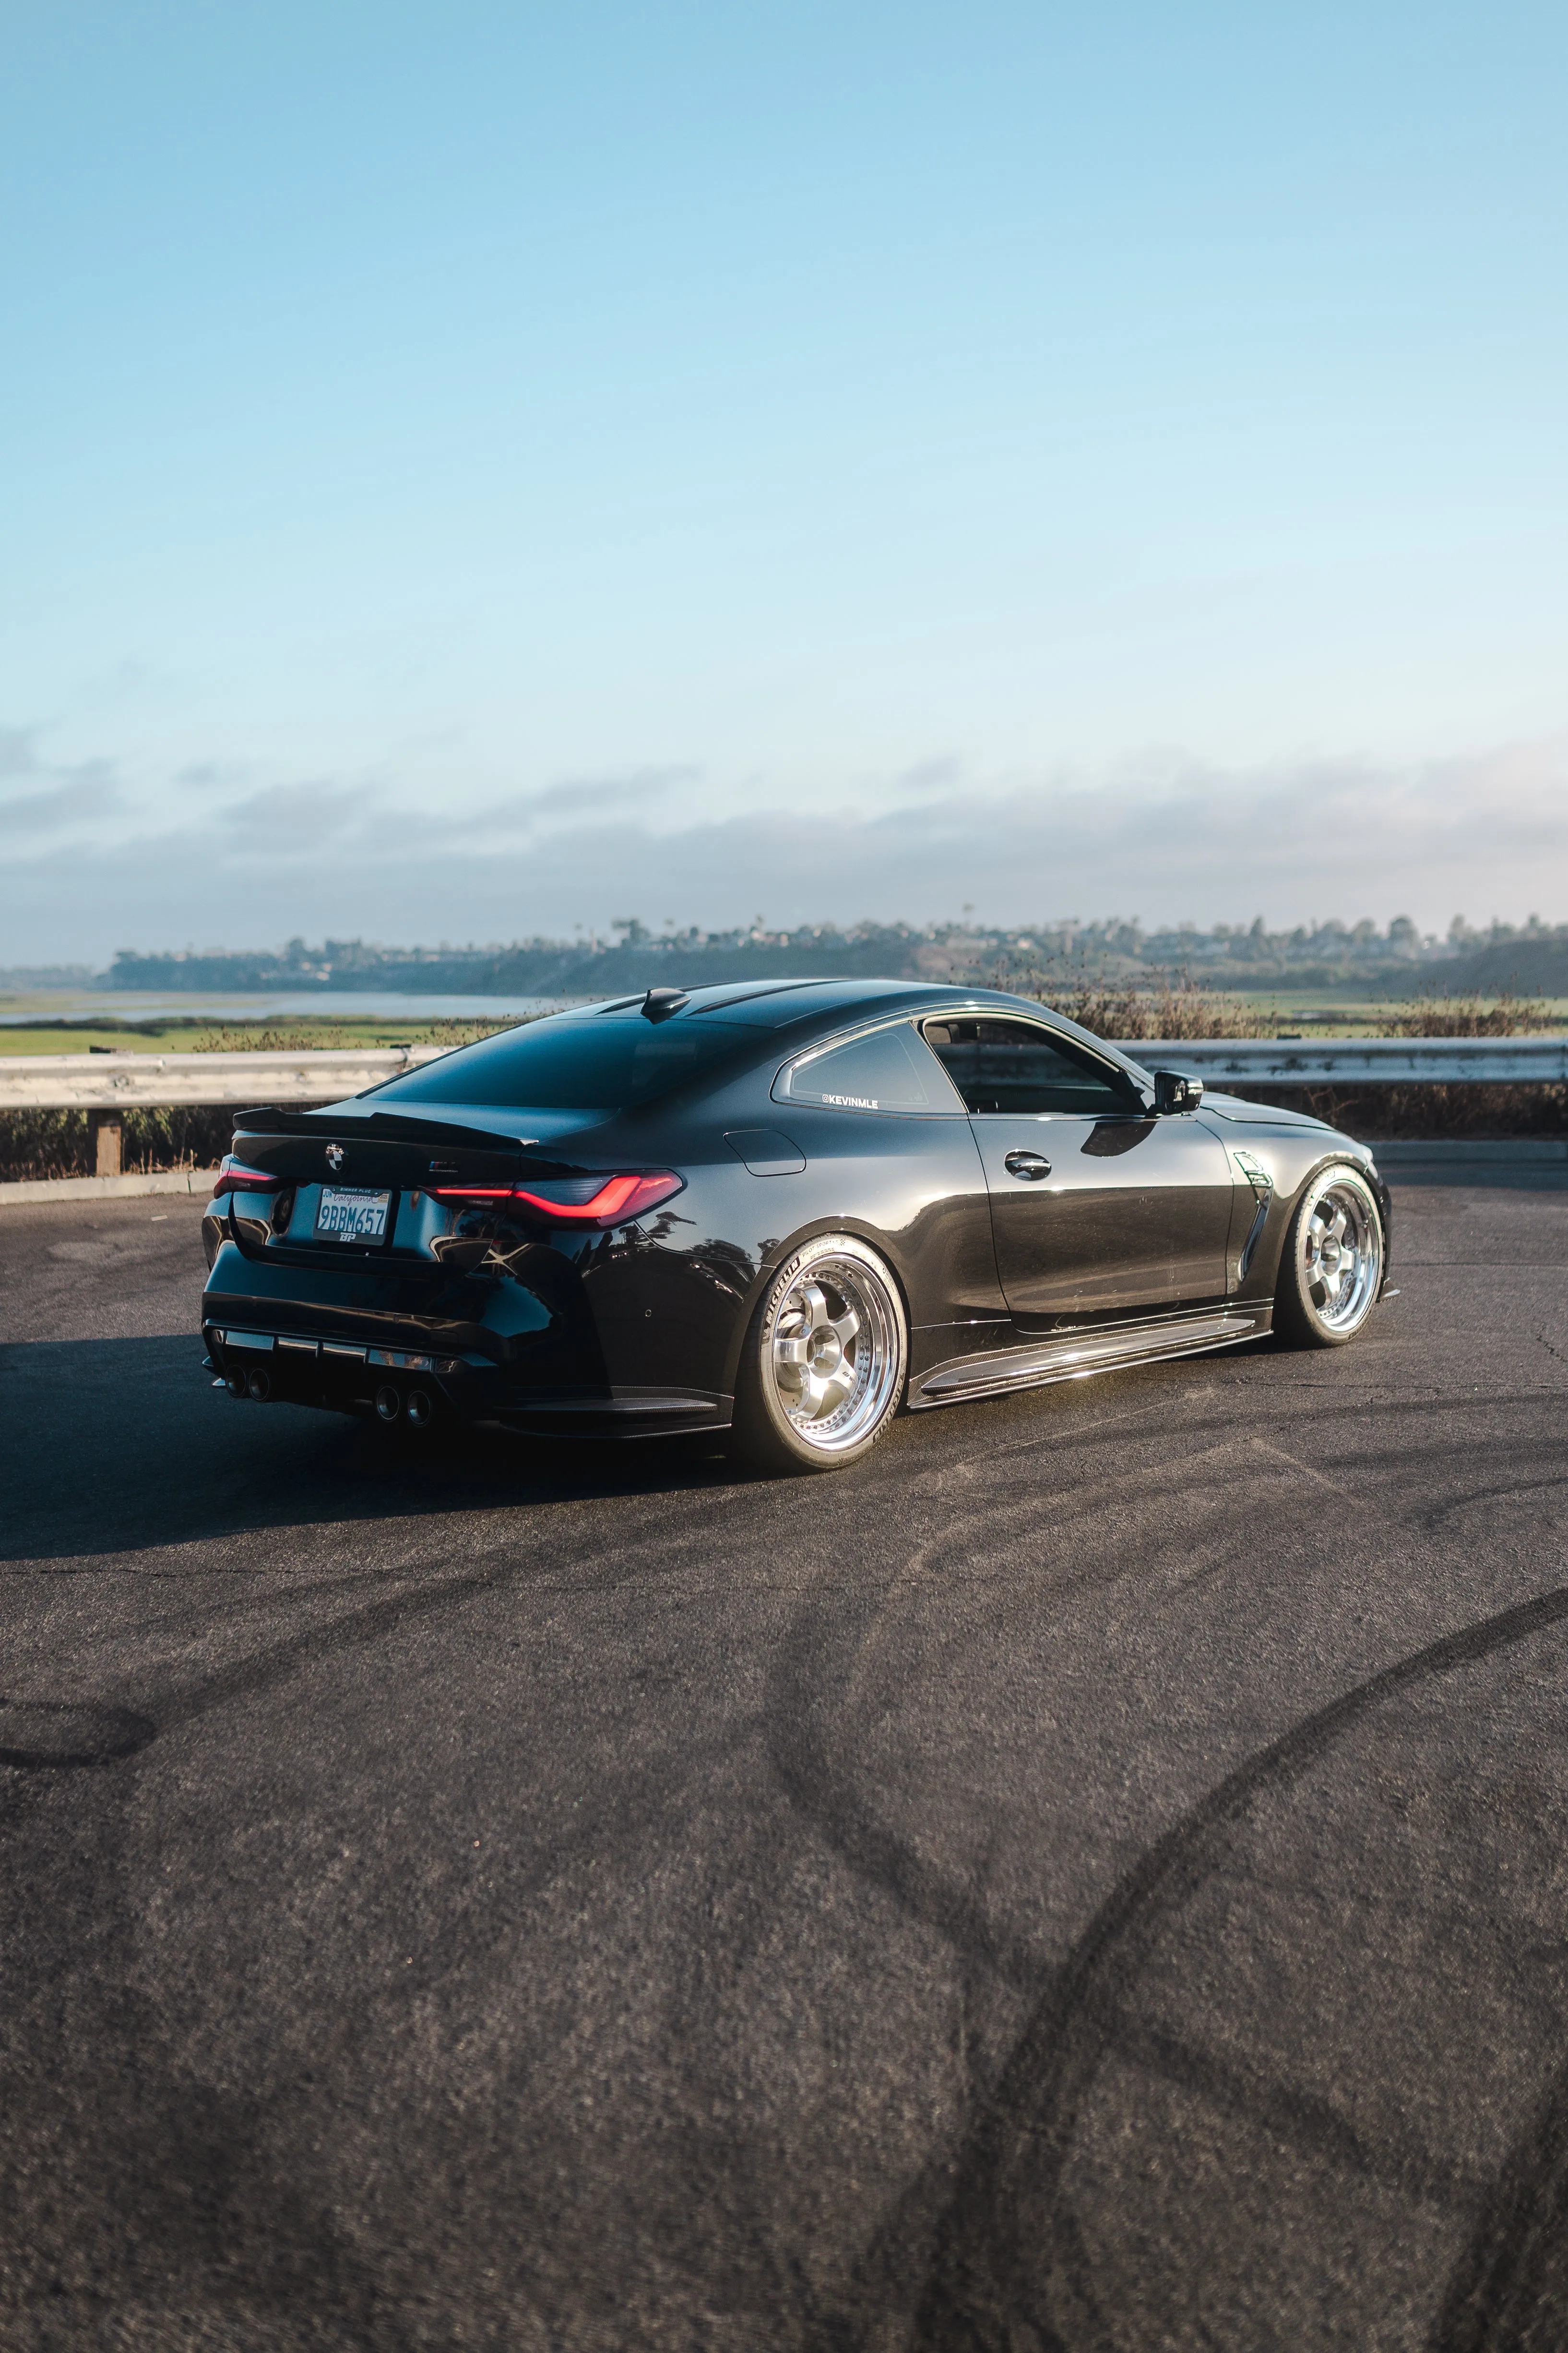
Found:
[[[449, 1047], [299, 1054], [5, 1054], [0, 1111], [129, 1111], [134, 1104], [339, 1104]], [[1147, 1068], [1211, 1087], [1516, 1087], [1568, 1080], [1568, 1038], [1133, 1038]]]

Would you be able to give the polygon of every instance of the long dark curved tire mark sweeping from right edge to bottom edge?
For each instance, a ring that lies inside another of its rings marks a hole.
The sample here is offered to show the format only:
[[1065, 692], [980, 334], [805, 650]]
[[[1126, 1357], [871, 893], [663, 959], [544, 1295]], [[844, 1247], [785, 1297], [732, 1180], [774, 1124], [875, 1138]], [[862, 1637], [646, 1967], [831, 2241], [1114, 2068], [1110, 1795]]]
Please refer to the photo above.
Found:
[[[1138, 1977], [1168, 1913], [1201, 1885], [1208, 1840], [1265, 1791], [1288, 1786], [1382, 1701], [1563, 1619], [1568, 1586], [1399, 1659], [1260, 1748], [1154, 1840], [1070, 1951], [954, 2160], [954, 2186], [917, 2313], [917, 2346], [926, 2353], [1013, 2353], [1027, 2344], [1041, 2353], [1067, 2353], [1074, 2344], [1100, 2339], [1060, 2177], [1084, 2099], [1117, 2033], [1121, 1988]], [[1559, 2212], [1552, 2207], [1552, 2214]], [[1526, 2238], [1535, 2247], [1537, 2240]], [[1554, 2252], [1554, 2259], [1568, 2268], [1568, 2257]], [[1507, 2278], [1514, 2275], [1516, 2268], [1509, 2268]], [[1474, 2344], [1486, 2353], [1512, 2353], [1514, 2346], [1535, 2353], [1530, 2337], [1481, 2337]], [[1460, 2348], [1469, 2353], [1465, 2339], [1455, 2339], [1455, 2353]]]

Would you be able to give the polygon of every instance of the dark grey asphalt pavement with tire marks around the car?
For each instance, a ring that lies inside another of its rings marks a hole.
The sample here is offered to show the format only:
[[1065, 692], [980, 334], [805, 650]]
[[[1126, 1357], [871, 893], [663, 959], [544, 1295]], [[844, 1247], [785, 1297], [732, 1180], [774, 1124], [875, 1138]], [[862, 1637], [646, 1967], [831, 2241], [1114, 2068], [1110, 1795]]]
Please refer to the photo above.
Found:
[[1396, 1214], [762, 1480], [0, 1212], [0, 2346], [1566, 2346], [1568, 1191]]

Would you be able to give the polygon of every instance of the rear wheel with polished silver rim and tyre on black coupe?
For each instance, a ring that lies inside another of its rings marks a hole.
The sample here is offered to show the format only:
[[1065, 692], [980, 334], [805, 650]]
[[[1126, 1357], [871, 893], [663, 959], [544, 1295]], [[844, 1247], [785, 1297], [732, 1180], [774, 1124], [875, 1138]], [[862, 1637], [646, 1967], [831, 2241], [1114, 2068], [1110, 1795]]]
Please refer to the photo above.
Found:
[[731, 1447], [766, 1471], [842, 1471], [903, 1398], [910, 1327], [889, 1266], [853, 1233], [790, 1252], [752, 1315]]

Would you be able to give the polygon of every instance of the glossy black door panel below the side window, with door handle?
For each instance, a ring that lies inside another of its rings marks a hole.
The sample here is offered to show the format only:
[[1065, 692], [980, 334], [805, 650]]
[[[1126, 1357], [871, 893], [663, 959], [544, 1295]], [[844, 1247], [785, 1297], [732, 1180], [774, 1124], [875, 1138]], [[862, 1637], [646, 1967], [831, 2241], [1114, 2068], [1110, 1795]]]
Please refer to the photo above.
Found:
[[[1225, 1299], [1234, 1184], [1225, 1146], [1190, 1113], [976, 1113], [971, 1125], [1001, 1294], [1020, 1322], [1110, 1322]], [[1032, 1174], [1039, 1158], [1048, 1176]]]

